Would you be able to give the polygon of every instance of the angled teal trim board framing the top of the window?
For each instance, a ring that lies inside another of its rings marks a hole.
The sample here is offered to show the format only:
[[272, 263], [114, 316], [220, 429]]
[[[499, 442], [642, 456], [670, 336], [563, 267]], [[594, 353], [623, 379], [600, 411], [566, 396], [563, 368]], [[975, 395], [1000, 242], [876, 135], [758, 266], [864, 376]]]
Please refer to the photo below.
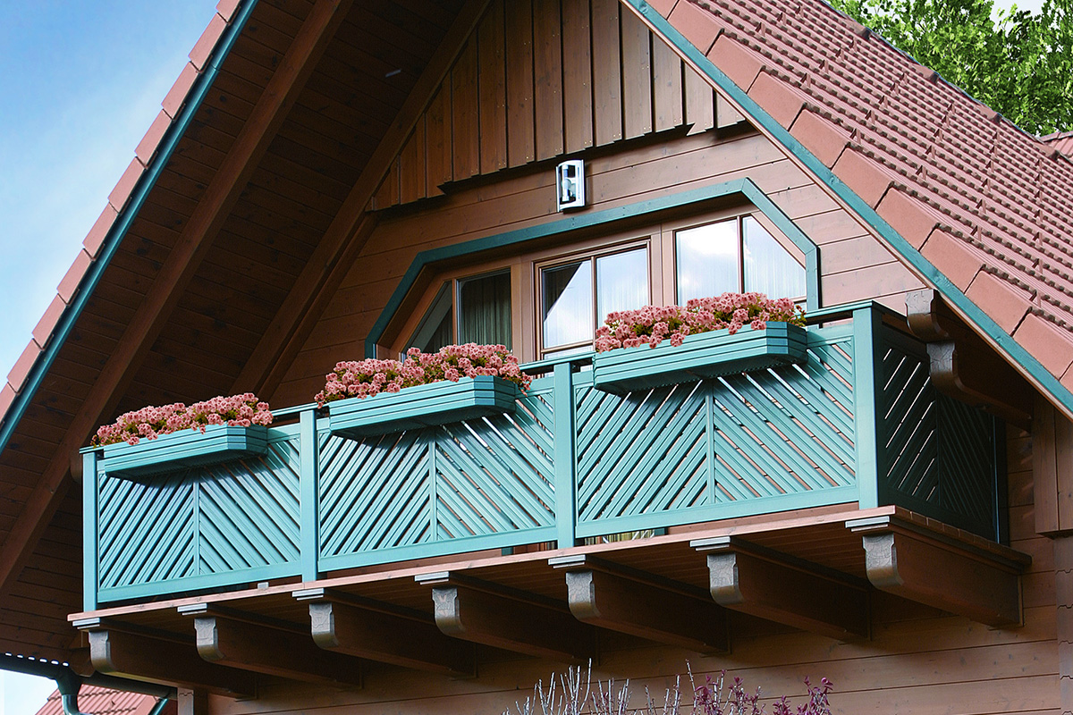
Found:
[[369, 334], [365, 340], [365, 355], [366, 357], [376, 357], [377, 343], [380, 342], [380, 338], [387, 329], [387, 325], [395, 317], [395, 313], [398, 311], [399, 306], [402, 304], [402, 300], [417, 282], [422, 270], [437, 262], [474, 255], [489, 249], [516, 245], [540, 238], [561, 236], [562, 234], [580, 228], [604, 226], [609, 230], [615, 223], [620, 221], [643, 218], [656, 219], [661, 212], [685, 207], [695, 208], [700, 211], [708, 202], [734, 195], [744, 196], [749, 203], [755, 206], [761, 213], [775, 224], [776, 228], [782, 232], [805, 254], [805, 273], [808, 291], [806, 308], [810, 311], [818, 310], [820, 307], [820, 252], [815, 243], [760, 190], [760, 187], [746, 178], [725, 181], [702, 189], [682, 191], [677, 194], [670, 194], [613, 209], [576, 213], [565, 219], [549, 221], [528, 228], [519, 228], [503, 234], [486, 236], [485, 238], [476, 238], [462, 243], [422, 251], [414, 257], [413, 263], [410, 264], [410, 267], [399, 281], [398, 287], [395, 288], [395, 293], [392, 294], [391, 299], [387, 301], [384, 310], [381, 311], [376, 324], [369, 330]]

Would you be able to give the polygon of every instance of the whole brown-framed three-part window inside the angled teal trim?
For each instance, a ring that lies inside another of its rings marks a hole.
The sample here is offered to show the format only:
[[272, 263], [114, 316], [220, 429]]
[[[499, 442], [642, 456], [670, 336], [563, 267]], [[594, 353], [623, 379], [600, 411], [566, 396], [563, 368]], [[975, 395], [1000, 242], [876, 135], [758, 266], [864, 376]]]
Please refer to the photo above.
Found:
[[400, 303], [382, 354], [501, 343], [530, 361], [590, 351], [614, 311], [737, 291], [803, 300], [805, 253], [774, 230], [763, 214], [723, 210], [473, 254], [469, 268], [430, 274]]

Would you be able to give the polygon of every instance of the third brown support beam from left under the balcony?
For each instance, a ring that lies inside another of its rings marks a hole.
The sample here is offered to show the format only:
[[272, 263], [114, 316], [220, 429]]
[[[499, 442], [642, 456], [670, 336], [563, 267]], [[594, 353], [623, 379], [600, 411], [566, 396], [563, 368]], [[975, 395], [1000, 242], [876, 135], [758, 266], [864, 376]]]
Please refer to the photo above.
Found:
[[294, 597], [309, 601], [313, 642], [326, 651], [456, 677], [476, 675], [474, 646], [445, 636], [424, 613], [324, 589], [297, 591]]

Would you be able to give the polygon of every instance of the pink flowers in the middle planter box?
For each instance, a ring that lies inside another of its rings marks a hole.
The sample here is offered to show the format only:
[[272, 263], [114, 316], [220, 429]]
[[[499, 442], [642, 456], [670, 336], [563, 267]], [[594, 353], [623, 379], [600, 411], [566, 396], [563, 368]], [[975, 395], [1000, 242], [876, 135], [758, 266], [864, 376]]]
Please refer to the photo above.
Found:
[[521, 372], [518, 359], [503, 345], [447, 345], [438, 353], [407, 351], [405, 360], [351, 360], [336, 364], [327, 374], [324, 389], [314, 398], [317, 404], [344, 398], [368, 398], [381, 392], [398, 392], [405, 387], [428, 385], [462, 377], [491, 375], [512, 382], [523, 390], [532, 377]]

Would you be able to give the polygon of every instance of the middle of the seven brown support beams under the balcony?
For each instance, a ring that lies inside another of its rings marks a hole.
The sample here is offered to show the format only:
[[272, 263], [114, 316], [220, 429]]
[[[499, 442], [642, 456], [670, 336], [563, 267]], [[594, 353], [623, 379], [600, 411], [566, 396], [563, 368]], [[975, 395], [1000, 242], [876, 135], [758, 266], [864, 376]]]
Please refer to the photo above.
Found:
[[556, 601], [445, 571], [415, 578], [432, 586], [436, 625], [449, 636], [560, 662], [596, 655], [596, 630]]

